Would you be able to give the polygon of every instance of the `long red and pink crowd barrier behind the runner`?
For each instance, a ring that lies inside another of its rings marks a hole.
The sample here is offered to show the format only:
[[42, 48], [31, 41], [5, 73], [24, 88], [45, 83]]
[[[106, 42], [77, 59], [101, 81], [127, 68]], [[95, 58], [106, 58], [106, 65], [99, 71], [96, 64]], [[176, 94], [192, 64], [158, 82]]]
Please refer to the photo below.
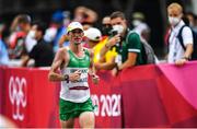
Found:
[[[0, 67], [0, 113], [19, 127], [59, 127], [59, 83], [48, 70]], [[141, 66], [91, 81], [102, 127], [197, 127], [197, 62]], [[79, 126], [78, 124], [76, 124]]]

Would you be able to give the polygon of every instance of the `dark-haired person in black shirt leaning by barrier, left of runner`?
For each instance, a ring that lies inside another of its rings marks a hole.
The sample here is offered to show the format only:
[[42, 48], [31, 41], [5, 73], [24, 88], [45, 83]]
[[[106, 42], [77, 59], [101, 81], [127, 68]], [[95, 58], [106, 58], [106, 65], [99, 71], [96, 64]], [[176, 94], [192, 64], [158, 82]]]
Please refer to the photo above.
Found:
[[34, 59], [35, 67], [49, 67], [54, 60], [53, 47], [43, 39], [45, 27], [42, 23], [34, 24], [33, 38], [37, 40], [37, 44], [28, 54], [28, 58], [23, 61], [23, 66], [26, 66], [30, 59]]

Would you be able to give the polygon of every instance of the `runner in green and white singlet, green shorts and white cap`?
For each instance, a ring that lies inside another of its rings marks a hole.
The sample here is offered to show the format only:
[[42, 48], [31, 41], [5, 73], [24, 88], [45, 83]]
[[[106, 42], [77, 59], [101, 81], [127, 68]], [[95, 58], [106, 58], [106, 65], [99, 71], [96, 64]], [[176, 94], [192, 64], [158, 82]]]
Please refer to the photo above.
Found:
[[[84, 33], [79, 22], [70, 23], [67, 34], [70, 45], [58, 50], [48, 74], [50, 81], [61, 81], [59, 101], [61, 127], [72, 128], [74, 118], [79, 117], [81, 128], [94, 128], [94, 107], [88, 84], [88, 73], [94, 83], [99, 82], [92, 64], [93, 54], [82, 47]], [[58, 69], [61, 73], [58, 73]]]

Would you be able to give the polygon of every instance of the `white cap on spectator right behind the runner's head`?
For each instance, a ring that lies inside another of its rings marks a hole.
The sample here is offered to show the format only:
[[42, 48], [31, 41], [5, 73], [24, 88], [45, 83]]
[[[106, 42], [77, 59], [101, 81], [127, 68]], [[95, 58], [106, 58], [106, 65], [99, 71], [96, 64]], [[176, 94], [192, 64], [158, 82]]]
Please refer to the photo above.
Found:
[[102, 33], [96, 27], [90, 27], [84, 32], [84, 36], [88, 37], [90, 40], [100, 42], [102, 37]]

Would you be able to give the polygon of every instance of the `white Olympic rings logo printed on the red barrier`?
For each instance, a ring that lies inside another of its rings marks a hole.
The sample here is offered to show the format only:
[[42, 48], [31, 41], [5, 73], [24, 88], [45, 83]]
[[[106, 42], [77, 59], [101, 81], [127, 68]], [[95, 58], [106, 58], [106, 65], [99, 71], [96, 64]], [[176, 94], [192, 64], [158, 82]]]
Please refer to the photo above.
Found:
[[22, 109], [26, 107], [27, 102], [27, 84], [26, 79], [11, 77], [9, 80], [9, 98], [12, 104], [12, 117], [15, 120], [23, 120], [24, 114]]

